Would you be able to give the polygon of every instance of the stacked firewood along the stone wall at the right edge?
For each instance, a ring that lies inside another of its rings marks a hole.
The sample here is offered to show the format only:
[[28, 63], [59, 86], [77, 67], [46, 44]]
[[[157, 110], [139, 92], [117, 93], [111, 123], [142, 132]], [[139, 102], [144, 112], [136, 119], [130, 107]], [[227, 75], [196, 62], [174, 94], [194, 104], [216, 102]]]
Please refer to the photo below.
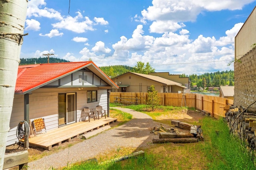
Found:
[[246, 149], [256, 156], [256, 113], [245, 113], [242, 107], [235, 107], [226, 112], [225, 120], [230, 133], [245, 141]]

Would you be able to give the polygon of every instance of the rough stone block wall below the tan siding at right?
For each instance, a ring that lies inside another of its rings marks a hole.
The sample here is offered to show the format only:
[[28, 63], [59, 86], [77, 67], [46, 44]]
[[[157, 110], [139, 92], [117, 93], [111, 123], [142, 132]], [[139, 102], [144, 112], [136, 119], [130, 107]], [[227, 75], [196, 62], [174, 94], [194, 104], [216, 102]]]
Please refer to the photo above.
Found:
[[[248, 107], [256, 100], [256, 48], [234, 63], [234, 105]], [[256, 111], [253, 104], [250, 111]]]

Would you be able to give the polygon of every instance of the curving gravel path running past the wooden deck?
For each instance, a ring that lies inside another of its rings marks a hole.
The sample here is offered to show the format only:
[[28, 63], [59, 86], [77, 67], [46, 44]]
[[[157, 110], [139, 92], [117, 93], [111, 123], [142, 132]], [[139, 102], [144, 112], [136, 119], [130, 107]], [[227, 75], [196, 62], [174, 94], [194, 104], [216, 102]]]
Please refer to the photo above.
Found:
[[112, 108], [132, 114], [132, 120], [114, 129], [104, 131], [95, 137], [86, 139], [81, 143], [77, 143], [72, 147], [63, 149], [58, 153], [29, 162], [28, 169], [60, 168], [68, 164], [93, 158], [97, 154], [119, 147], [145, 147], [148, 143], [152, 143], [153, 138], [156, 138], [154, 133], [150, 133], [150, 129], [159, 126], [159, 123], [154, 122], [150, 116], [132, 109]]

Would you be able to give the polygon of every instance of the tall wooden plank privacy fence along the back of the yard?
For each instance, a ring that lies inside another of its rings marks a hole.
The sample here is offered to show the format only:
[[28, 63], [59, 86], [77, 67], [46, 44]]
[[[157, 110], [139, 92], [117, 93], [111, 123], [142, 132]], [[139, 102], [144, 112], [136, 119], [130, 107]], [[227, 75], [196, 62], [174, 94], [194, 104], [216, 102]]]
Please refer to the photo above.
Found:
[[[140, 101], [138, 104], [146, 104], [148, 93], [110, 92], [110, 103], [114, 103], [114, 100], [117, 97], [126, 98], [126, 100], [129, 102], [133, 102], [136, 98], [138, 101]], [[158, 97], [160, 98], [160, 105], [162, 106], [184, 107], [186, 104], [186, 107], [194, 107], [198, 110], [206, 111], [207, 113], [210, 113], [212, 117], [225, 117], [226, 110], [224, 110], [224, 107], [227, 105], [233, 105], [233, 100], [227, 98], [196, 93], [158, 93]]]

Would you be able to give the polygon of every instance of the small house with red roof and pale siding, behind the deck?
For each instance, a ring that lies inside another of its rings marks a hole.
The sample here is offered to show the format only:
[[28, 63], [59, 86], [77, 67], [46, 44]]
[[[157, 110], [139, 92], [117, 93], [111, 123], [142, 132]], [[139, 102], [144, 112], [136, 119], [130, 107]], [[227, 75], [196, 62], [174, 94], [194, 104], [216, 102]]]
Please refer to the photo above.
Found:
[[118, 88], [92, 61], [19, 66], [7, 146], [18, 142], [22, 120], [42, 118], [50, 131], [79, 121], [84, 107], [109, 113], [109, 93]]

